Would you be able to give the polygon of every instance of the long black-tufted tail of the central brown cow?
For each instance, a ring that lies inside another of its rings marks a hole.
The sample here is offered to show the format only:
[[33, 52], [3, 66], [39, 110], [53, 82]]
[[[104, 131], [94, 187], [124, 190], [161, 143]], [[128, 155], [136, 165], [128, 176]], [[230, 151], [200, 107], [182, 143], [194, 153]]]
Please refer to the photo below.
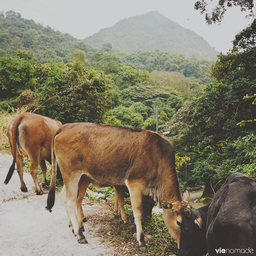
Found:
[[49, 212], [52, 212], [52, 207], [55, 202], [55, 182], [56, 182], [58, 163], [57, 163], [55, 152], [54, 152], [54, 139], [58, 133], [59, 132], [56, 132], [52, 139], [52, 177], [51, 177], [51, 183], [50, 183], [50, 191], [47, 197], [47, 206], [45, 207], [45, 209], [48, 210]]

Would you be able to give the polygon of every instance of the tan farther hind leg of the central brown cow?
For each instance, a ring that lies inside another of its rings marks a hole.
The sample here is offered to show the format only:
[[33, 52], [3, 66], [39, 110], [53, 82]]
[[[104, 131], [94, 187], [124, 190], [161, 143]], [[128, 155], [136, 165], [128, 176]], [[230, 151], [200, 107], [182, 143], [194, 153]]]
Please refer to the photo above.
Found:
[[77, 220], [80, 228], [84, 231], [83, 222], [86, 222], [86, 218], [84, 217], [84, 212], [82, 208], [82, 201], [84, 199], [84, 195], [86, 192], [86, 188], [90, 185], [91, 179], [89, 179], [86, 175], [82, 175], [79, 183], [78, 183], [78, 193], [76, 198], [76, 210], [77, 210]]

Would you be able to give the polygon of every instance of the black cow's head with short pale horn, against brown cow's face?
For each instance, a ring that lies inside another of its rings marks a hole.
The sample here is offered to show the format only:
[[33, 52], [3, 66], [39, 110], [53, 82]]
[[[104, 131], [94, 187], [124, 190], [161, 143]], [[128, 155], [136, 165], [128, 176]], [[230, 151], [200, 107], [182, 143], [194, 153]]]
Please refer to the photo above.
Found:
[[180, 223], [179, 256], [203, 256], [206, 247], [206, 217], [197, 209], [185, 208]]

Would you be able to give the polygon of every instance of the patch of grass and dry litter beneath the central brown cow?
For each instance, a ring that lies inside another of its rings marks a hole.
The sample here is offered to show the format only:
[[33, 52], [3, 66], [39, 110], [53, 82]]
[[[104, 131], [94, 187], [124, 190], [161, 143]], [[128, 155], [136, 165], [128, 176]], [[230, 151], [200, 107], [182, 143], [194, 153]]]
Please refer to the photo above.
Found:
[[[95, 199], [91, 201], [90, 198], [90, 196], [87, 196], [83, 202], [89, 205], [95, 204]], [[98, 230], [100, 241], [107, 243], [108, 246], [115, 247], [115, 255], [177, 255], [177, 243], [167, 230], [161, 213], [152, 212], [151, 219], [147, 217], [142, 220], [142, 228], [148, 247], [148, 253], [143, 253], [140, 252], [136, 240], [136, 225], [134, 224], [131, 203], [126, 202], [124, 206], [127, 217], [127, 222], [124, 223], [120, 211], [117, 216], [114, 216], [114, 200], [112, 204], [110, 202], [102, 201], [100, 205], [105, 210], [102, 211], [102, 208], [99, 208], [98, 211], [94, 210], [90, 215], [86, 215], [86, 218], [88, 223], [92, 222], [92, 225], [100, 225], [101, 228]]]

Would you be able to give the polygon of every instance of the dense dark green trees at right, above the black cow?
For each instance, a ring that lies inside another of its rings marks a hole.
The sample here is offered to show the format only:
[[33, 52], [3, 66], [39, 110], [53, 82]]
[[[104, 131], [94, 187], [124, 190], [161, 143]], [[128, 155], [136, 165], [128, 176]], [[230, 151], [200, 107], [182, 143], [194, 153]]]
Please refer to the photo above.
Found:
[[256, 20], [236, 35], [232, 52], [212, 66], [214, 80], [164, 125], [176, 150], [191, 159], [188, 182], [202, 182], [210, 193], [231, 172], [256, 178], [255, 28]]

